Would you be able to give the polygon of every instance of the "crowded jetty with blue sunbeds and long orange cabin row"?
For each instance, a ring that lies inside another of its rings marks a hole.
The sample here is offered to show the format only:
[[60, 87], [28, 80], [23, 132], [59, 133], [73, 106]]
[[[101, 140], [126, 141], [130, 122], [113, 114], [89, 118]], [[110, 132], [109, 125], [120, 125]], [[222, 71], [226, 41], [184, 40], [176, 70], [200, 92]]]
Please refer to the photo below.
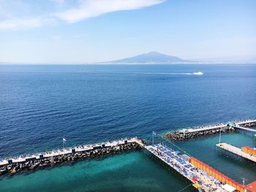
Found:
[[242, 191], [244, 186], [204, 164], [197, 158], [181, 154], [163, 144], [144, 145], [144, 148], [171, 169], [191, 182], [198, 191]]

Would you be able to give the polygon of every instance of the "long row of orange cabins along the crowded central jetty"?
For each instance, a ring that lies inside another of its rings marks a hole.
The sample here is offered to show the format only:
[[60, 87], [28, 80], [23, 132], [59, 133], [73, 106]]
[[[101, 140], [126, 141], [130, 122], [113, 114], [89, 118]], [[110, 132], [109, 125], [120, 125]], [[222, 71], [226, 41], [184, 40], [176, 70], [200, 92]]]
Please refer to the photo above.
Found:
[[193, 166], [197, 167], [198, 169], [201, 169], [203, 172], [206, 172], [207, 174], [211, 175], [215, 179], [219, 180], [221, 183], [231, 185], [234, 188], [236, 188], [237, 191], [244, 192], [243, 185], [241, 185], [240, 183], [237, 183], [235, 180], [230, 179], [225, 174], [218, 172], [216, 169], [212, 168], [211, 166], [204, 164], [202, 161], [199, 161], [197, 158], [190, 157], [189, 162]]

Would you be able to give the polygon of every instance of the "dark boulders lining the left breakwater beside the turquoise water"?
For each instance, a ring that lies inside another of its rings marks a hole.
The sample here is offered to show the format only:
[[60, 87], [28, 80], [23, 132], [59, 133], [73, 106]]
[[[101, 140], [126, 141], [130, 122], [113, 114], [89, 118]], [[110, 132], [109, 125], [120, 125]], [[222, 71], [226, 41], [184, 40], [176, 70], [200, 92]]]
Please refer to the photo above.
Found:
[[57, 164], [73, 163], [75, 161], [86, 158], [97, 158], [108, 154], [120, 153], [123, 151], [138, 150], [140, 148], [141, 146], [137, 142], [127, 142], [112, 147], [105, 147], [102, 145], [102, 147], [93, 150], [74, 152], [65, 155], [55, 155], [47, 158], [3, 165], [0, 166], [0, 175], [12, 175], [22, 171], [43, 169], [45, 167], [54, 166]]

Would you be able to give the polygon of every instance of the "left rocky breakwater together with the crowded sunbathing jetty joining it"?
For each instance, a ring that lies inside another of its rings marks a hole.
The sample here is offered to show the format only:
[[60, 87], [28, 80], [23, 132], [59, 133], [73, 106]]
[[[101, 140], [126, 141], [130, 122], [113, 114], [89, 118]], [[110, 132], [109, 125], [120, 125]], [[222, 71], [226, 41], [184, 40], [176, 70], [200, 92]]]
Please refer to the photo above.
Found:
[[[163, 143], [146, 145], [146, 142], [142, 139], [138, 139], [137, 137], [0, 159], [0, 175], [12, 175], [21, 171], [36, 170], [42, 169], [46, 166], [54, 166], [55, 164], [72, 163], [79, 159], [95, 158], [121, 151], [139, 149], [144, 149], [144, 151], [165, 163], [175, 172], [181, 174], [190, 182], [190, 185], [200, 192], [246, 192], [243, 185], [230, 179], [224, 174], [217, 172], [217, 170], [204, 164], [197, 158], [173, 150]], [[248, 151], [248, 149], [246, 149], [246, 151]], [[252, 188], [252, 185], [250, 185], [250, 188]]]

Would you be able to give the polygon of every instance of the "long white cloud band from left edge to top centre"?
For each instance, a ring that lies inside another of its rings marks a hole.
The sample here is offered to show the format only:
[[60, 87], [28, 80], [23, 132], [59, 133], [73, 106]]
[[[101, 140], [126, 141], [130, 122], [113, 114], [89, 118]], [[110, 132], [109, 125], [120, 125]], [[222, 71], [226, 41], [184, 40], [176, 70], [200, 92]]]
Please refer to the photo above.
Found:
[[[57, 4], [64, 4], [65, 2], [65, 0], [51, 1], [55, 1]], [[48, 12], [45, 14], [46, 16], [36, 15], [34, 18], [12, 18], [8, 14], [8, 19], [1, 20], [0, 18], [0, 30], [35, 28], [49, 23], [57, 23], [59, 20], [76, 23], [80, 20], [97, 17], [108, 12], [141, 9], [160, 4], [163, 1], [165, 0], [80, 0], [77, 7], [67, 8], [60, 12]], [[2, 2], [7, 3], [8, 1], [0, 0], [0, 5]], [[47, 10], [45, 11], [47, 12]]]

